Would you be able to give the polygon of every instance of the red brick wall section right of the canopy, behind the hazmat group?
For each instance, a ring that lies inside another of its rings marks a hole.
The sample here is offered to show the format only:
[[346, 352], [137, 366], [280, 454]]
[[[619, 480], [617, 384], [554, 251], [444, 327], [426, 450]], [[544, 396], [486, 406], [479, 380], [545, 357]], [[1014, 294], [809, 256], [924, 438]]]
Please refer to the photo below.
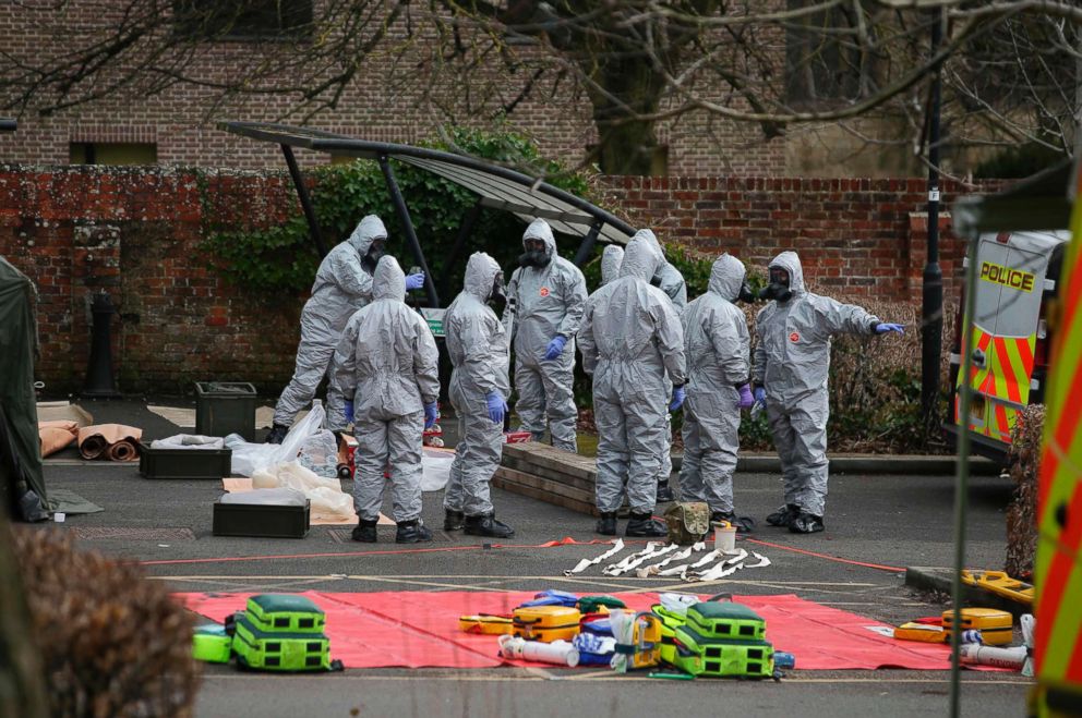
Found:
[[[997, 183], [989, 182], [985, 190]], [[924, 179], [610, 178], [632, 222], [663, 242], [705, 255], [729, 252], [765, 273], [779, 252], [801, 255], [815, 291], [919, 302], [927, 258]], [[950, 231], [950, 204], [985, 191], [940, 186], [945, 296], [957, 295], [964, 242]]]

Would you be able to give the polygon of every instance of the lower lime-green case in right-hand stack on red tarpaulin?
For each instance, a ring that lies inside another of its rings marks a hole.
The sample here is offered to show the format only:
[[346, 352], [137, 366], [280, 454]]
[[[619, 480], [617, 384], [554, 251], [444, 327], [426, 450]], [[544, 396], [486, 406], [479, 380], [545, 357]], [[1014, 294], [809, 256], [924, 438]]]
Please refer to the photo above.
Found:
[[770, 678], [774, 648], [762, 640], [712, 638], [690, 626], [676, 629], [673, 665], [692, 676]]

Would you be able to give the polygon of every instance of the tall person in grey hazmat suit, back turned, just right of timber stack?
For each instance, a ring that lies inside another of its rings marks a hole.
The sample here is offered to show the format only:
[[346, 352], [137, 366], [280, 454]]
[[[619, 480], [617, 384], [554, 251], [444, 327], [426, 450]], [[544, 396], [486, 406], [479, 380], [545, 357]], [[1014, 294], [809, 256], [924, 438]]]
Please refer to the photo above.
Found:
[[[684, 332], [672, 302], [649, 284], [662, 260], [642, 230], [627, 245], [620, 278], [586, 303], [579, 348], [593, 377], [598, 425], [597, 531], [616, 533], [626, 484], [627, 536], [664, 536], [652, 518], [669, 411], [684, 402]], [[670, 402], [666, 378], [672, 386]], [[666, 411], [668, 410], [668, 411]]]

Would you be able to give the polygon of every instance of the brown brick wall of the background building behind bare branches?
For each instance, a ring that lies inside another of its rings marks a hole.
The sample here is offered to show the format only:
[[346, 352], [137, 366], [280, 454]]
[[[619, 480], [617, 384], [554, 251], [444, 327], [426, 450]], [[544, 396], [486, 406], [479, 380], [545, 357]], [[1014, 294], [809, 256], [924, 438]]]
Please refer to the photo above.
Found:
[[[116, 32], [112, 25], [128, 4], [120, 0], [62, 7], [0, 2], [0, 37], [5, 57], [35, 64], [43, 60], [43, 53], [59, 56], [71, 51], [73, 45], [105, 40]], [[321, 4], [317, 0], [316, 5]], [[260, 64], [263, 53], [285, 52], [287, 46], [207, 42], [190, 60], [182, 59], [187, 48], [157, 59], [160, 65], [178, 63], [185, 76], [204, 86], [156, 85], [154, 81], [160, 81], [160, 76], [153, 73], [142, 80], [119, 82], [125, 64], [111, 61], [96, 78], [95, 89], [113, 80], [120, 85], [116, 90], [47, 115], [36, 112], [38, 105], [32, 102], [20, 117], [19, 132], [0, 134], [0, 160], [67, 165], [70, 143], [120, 142], [155, 144], [160, 165], [280, 167], [281, 154], [276, 146], [218, 129], [218, 122], [224, 120], [306, 124], [363, 139], [416, 143], [434, 136], [445, 123], [486, 127], [506, 117], [507, 127], [536, 137], [545, 156], [569, 162], [581, 161], [587, 148], [597, 142], [585, 93], [562, 73], [548, 71], [530, 83], [533, 73], [529, 62], [513, 71], [493, 56], [472, 68], [465, 80], [438, 75], [432, 69], [437, 45], [423, 37], [405, 40], [406, 26], [405, 19], [390, 26], [386, 40], [364, 58], [357, 77], [345, 87], [334, 109], [322, 110], [306, 120], [301, 119], [303, 111], [296, 111], [299, 93], [240, 94], [224, 99], [212, 89], [233, 82], [241, 69]], [[469, 44], [468, 37], [466, 41]], [[526, 48], [516, 51], [528, 54]], [[401, 58], [396, 57], [398, 52]], [[134, 58], [127, 62], [134, 62]], [[280, 81], [288, 83], [289, 77]], [[533, 89], [515, 104], [528, 84]], [[80, 86], [75, 94], [84, 89]], [[0, 89], [0, 106], [15, 107], [12, 92]], [[721, 87], [710, 88], [707, 94], [719, 101], [741, 104]], [[660, 122], [658, 135], [659, 142], [669, 146], [672, 174], [776, 175], [785, 171], [785, 141], [762, 141], [755, 125], [699, 111]], [[327, 161], [325, 155], [310, 153], [299, 153], [298, 159], [306, 165]]]

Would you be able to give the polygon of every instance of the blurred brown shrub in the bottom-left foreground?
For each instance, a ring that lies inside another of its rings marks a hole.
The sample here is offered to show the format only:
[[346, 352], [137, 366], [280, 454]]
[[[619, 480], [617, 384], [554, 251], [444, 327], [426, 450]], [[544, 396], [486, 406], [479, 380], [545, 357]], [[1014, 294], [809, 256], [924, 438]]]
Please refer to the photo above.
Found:
[[13, 532], [56, 716], [190, 716], [192, 618], [135, 563], [76, 551], [65, 534]]

